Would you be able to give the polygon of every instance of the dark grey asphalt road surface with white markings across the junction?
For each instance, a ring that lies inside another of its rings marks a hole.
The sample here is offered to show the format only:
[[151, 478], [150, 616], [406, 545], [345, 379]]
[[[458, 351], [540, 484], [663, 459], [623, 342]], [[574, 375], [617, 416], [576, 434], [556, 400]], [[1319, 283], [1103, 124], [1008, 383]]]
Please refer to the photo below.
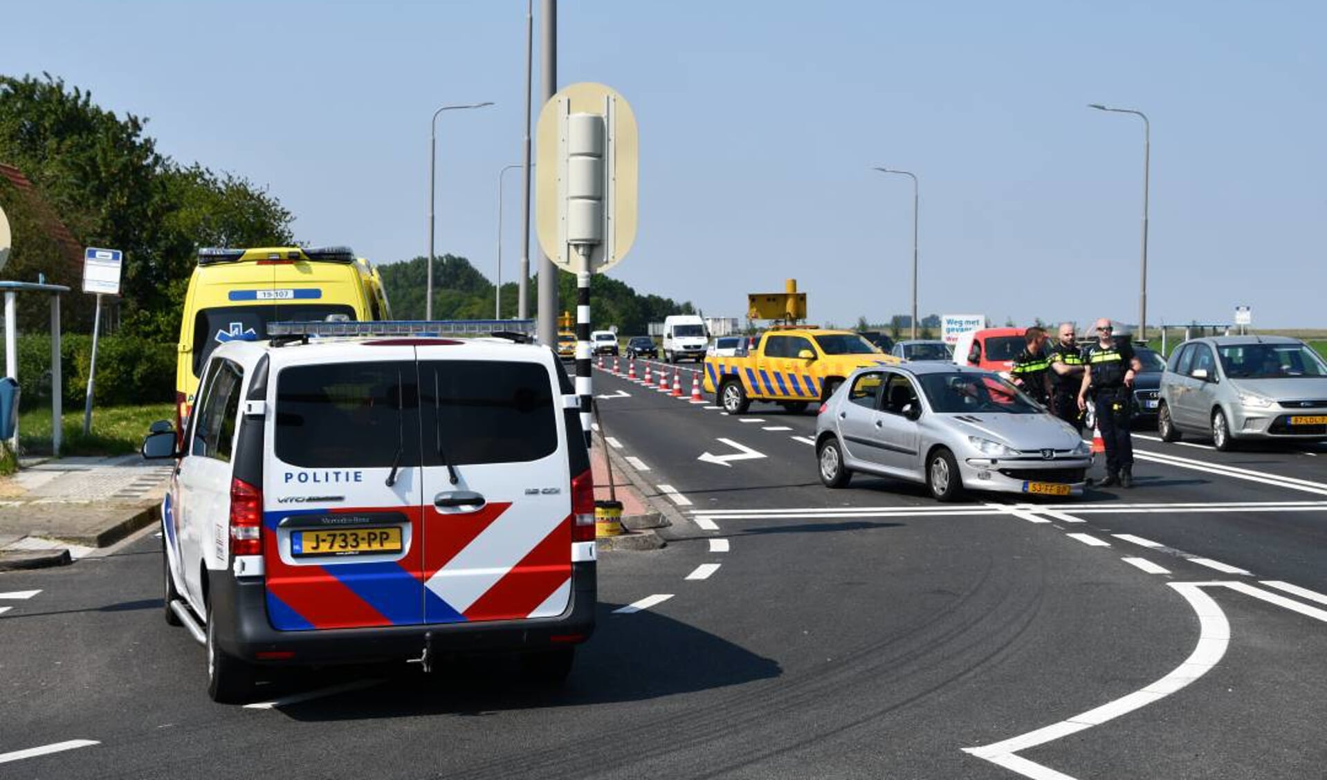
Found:
[[[813, 409], [733, 418], [604, 371], [596, 391], [677, 524], [601, 558], [563, 690], [483, 659], [212, 704], [149, 533], [0, 574], [0, 775], [1323, 776], [1327, 450], [1139, 438], [1131, 491], [938, 505], [821, 487]], [[44, 746], [65, 749], [19, 753]]]

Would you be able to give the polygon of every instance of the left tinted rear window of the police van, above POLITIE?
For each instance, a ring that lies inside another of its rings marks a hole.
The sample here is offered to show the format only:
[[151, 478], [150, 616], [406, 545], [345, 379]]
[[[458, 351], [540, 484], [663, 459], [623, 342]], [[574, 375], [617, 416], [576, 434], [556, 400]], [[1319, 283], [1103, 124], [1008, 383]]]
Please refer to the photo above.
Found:
[[414, 361], [283, 369], [276, 456], [308, 468], [418, 466], [417, 397]]

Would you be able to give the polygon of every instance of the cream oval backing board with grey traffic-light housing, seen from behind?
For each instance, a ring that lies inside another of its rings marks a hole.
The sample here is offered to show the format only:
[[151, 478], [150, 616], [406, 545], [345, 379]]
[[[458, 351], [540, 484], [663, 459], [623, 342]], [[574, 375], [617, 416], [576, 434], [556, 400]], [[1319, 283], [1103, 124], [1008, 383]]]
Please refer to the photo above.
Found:
[[602, 84], [564, 88], [539, 111], [535, 226], [563, 271], [601, 273], [636, 240], [636, 114]]

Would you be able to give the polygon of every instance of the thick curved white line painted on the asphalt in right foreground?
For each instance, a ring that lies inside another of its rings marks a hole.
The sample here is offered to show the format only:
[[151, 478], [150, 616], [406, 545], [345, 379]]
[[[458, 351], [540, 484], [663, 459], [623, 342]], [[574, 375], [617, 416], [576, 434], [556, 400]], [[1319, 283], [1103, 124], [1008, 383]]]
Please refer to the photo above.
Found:
[[[1036, 761], [1030, 761], [1014, 753], [1039, 744], [1046, 744], [1062, 736], [1067, 736], [1093, 726], [1100, 726], [1108, 720], [1119, 718], [1120, 715], [1145, 707], [1147, 704], [1184, 688], [1186, 684], [1210, 671], [1212, 667], [1221, 661], [1221, 657], [1225, 655], [1226, 646], [1230, 643], [1230, 622], [1226, 619], [1225, 613], [1221, 612], [1217, 602], [1200, 589], [1200, 584], [1169, 582], [1169, 585], [1170, 588], [1178, 590], [1180, 594], [1189, 601], [1189, 606], [1192, 606], [1193, 612], [1198, 616], [1198, 643], [1184, 663], [1174, 667], [1170, 674], [1162, 677], [1148, 687], [1103, 704], [1101, 707], [1088, 710], [1087, 712], [1082, 712], [1067, 720], [1060, 720], [1059, 723], [1052, 723], [1038, 728], [1036, 731], [1030, 731], [1003, 742], [975, 748], [963, 748], [963, 752], [971, 753], [979, 759], [986, 759], [993, 764], [1018, 772], [1024, 777], [1032, 777], [1034, 780], [1074, 780], [1070, 775], [1056, 772], [1050, 767], [1043, 767]], [[1241, 584], [1235, 582], [1231, 585]]]

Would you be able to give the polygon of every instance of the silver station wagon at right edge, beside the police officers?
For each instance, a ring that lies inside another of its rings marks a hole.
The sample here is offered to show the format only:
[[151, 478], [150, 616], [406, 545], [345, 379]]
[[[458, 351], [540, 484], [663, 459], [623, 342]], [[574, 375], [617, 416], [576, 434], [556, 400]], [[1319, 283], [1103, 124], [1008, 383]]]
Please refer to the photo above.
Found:
[[1196, 338], [1161, 375], [1157, 432], [1210, 436], [1217, 450], [1249, 439], [1327, 439], [1327, 363], [1283, 336]]

